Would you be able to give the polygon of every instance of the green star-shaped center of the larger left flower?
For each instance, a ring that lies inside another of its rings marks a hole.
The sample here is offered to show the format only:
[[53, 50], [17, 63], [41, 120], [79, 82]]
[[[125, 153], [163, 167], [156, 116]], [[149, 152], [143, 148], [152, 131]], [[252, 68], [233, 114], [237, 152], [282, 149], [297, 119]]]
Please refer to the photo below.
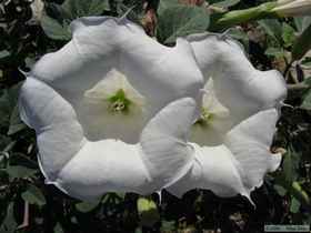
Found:
[[114, 113], [128, 113], [132, 102], [127, 98], [126, 92], [120, 89], [117, 93], [108, 99], [108, 109]]

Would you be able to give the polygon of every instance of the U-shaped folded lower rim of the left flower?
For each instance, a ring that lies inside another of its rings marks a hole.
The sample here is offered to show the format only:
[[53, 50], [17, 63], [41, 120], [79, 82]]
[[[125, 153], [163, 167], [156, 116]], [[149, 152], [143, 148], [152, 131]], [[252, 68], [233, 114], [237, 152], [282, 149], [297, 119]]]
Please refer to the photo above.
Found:
[[185, 143], [197, 113], [191, 98], [161, 110], [138, 144], [86, 140], [72, 107], [32, 78], [21, 89], [19, 107], [22, 120], [36, 130], [47, 183], [78, 199], [94, 200], [106, 192], [152, 193], [183, 176], [192, 164], [192, 150]]

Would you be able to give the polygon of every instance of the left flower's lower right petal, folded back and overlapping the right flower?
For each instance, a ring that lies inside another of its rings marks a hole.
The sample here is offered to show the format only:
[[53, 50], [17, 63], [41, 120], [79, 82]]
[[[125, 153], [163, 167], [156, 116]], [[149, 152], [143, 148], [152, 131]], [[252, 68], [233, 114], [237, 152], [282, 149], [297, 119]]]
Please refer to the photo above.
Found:
[[194, 99], [183, 98], [159, 112], [143, 130], [143, 161], [158, 190], [179, 180], [192, 165], [193, 150], [187, 138], [197, 114]]

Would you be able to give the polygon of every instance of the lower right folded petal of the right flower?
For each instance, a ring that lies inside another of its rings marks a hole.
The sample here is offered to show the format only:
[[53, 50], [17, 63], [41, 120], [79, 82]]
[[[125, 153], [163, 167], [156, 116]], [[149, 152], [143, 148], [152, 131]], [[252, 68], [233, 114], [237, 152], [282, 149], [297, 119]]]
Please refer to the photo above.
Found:
[[260, 186], [265, 173], [281, 163], [281, 154], [270, 151], [278, 119], [275, 109], [261, 111], [233, 128], [224, 140], [244, 171], [243, 183], [249, 190]]

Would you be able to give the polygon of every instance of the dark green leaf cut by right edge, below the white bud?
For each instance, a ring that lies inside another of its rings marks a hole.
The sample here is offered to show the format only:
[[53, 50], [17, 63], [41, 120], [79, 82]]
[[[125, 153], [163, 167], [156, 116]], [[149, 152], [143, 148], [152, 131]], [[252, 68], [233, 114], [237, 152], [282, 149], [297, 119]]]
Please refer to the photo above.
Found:
[[293, 43], [292, 60], [300, 60], [311, 49], [311, 24]]

